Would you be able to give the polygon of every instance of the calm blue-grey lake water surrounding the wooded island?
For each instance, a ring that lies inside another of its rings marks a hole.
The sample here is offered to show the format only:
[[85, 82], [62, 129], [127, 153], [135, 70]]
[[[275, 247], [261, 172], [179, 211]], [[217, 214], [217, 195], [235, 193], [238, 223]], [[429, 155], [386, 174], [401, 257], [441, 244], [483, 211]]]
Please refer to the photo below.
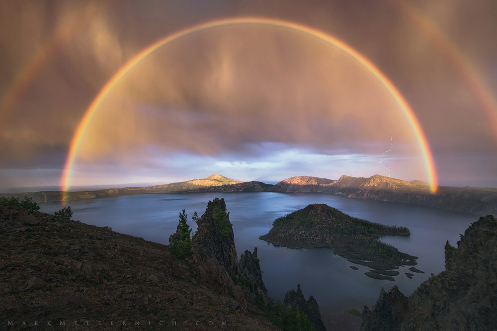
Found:
[[[209, 200], [223, 197], [233, 223], [235, 242], [240, 256], [256, 246], [263, 279], [271, 298], [283, 300], [286, 291], [301, 284], [304, 296], [313, 295], [324, 315], [373, 305], [380, 289], [397, 285], [406, 295], [411, 294], [430, 273], [444, 270], [444, 245], [448, 240], [455, 246], [478, 216], [409, 204], [349, 199], [337, 195], [312, 193], [189, 193], [145, 194], [71, 202], [73, 219], [109, 226], [114, 231], [168, 244], [169, 235], [176, 231], [182, 209], [189, 215], [202, 215]], [[369, 268], [357, 265], [353, 270], [331, 249], [288, 249], [273, 247], [258, 239], [271, 228], [274, 219], [301, 209], [310, 203], [326, 203], [342, 212], [373, 222], [408, 227], [410, 237], [383, 237], [400, 251], [419, 256], [416, 267], [425, 274], [406, 277], [409, 267], [401, 267], [396, 281], [376, 280], [364, 275]], [[58, 203], [45, 203], [41, 211], [53, 213]]]

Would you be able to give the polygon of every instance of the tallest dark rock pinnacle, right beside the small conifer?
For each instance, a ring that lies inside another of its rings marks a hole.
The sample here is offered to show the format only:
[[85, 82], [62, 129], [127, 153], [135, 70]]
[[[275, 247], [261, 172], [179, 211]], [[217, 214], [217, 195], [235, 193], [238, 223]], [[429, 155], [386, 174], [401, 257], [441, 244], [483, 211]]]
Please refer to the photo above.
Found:
[[[238, 256], [233, 229], [223, 235], [222, 225], [215, 220], [216, 210], [226, 213], [224, 199], [209, 201], [205, 213], [198, 220], [198, 229], [192, 238], [193, 251], [223, 267], [230, 277], [238, 274]], [[231, 226], [231, 225], [230, 225]]]

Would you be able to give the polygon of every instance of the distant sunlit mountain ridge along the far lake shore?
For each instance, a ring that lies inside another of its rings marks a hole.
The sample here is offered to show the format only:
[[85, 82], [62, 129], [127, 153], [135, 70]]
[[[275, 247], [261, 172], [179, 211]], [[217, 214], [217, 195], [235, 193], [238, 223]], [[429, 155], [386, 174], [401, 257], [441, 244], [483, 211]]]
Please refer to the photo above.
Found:
[[107, 188], [93, 191], [39, 191], [0, 193], [0, 196], [31, 197], [36, 202], [69, 202], [130, 194], [194, 192], [281, 192], [338, 194], [348, 198], [410, 203], [462, 211], [475, 215], [497, 214], [497, 188], [439, 186], [432, 194], [429, 184], [375, 174], [370, 177], [342, 175], [338, 179], [294, 176], [272, 185], [261, 181], [237, 181], [221, 174], [183, 182], [144, 187]]

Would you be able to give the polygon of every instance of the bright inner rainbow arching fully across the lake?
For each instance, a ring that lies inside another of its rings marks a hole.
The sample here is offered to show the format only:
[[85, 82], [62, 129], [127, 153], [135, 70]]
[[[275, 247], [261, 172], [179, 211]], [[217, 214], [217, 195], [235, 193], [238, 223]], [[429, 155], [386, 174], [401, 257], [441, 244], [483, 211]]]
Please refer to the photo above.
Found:
[[[67, 192], [70, 188], [71, 185], [71, 171], [74, 166], [74, 162], [76, 159], [76, 154], [78, 152], [78, 148], [81, 144], [82, 138], [84, 131], [86, 130], [86, 127], [88, 126], [88, 123], [91, 121], [91, 118], [95, 114], [96, 110], [98, 109], [98, 106], [101, 104], [102, 100], [105, 98], [105, 96], [109, 93], [109, 91], [112, 89], [112, 87], [119, 82], [124, 76], [126, 76], [127, 73], [130, 72], [131, 69], [133, 69], [140, 61], [145, 59], [147, 56], [161, 48], [162, 46], [167, 45], [168, 43], [177, 40], [181, 37], [184, 37], [188, 34], [198, 32], [201, 30], [206, 30], [209, 28], [214, 28], [214, 27], [219, 27], [219, 26], [228, 26], [228, 25], [235, 25], [235, 24], [260, 24], [260, 25], [268, 25], [268, 26], [276, 26], [276, 27], [283, 27], [287, 28], [290, 30], [294, 31], [299, 31], [304, 34], [313, 36], [319, 40], [325, 41], [335, 47], [338, 47], [348, 55], [350, 55], [352, 58], [354, 58], [357, 62], [359, 62], [361, 65], [363, 65], [366, 69], [368, 69], [379, 81], [382, 83], [387, 90], [390, 92], [390, 94], [394, 97], [396, 102], [399, 104], [401, 107], [402, 111], [406, 115], [411, 128], [413, 129], [414, 135], [417, 139], [420, 151], [423, 155], [423, 161], [424, 161], [424, 166], [426, 170], [426, 174], [428, 177], [428, 182], [430, 184], [430, 189], [431, 192], [436, 193], [437, 191], [437, 173], [436, 173], [436, 168], [435, 168], [435, 163], [433, 160], [433, 156], [430, 151], [430, 147], [428, 145], [428, 141], [426, 140], [426, 136], [424, 135], [424, 132], [421, 128], [421, 125], [419, 124], [419, 121], [417, 120], [416, 116], [414, 115], [413, 110], [407, 103], [407, 101], [404, 99], [402, 94], [399, 92], [399, 90], [395, 87], [395, 85], [390, 82], [390, 80], [373, 64], [371, 61], [369, 61], [367, 58], [365, 58], [363, 55], [358, 53], [356, 50], [345, 44], [343, 41], [326, 34], [322, 31], [319, 31], [317, 29], [298, 24], [298, 23], [293, 23], [293, 22], [288, 22], [284, 20], [279, 20], [279, 19], [273, 19], [273, 18], [263, 18], [263, 17], [238, 17], [238, 18], [227, 18], [227, 19], [220, 19], [220, 20], [214, 20], [206, 23], [202, 23], [199, 25], [195, 25], [192, 27], [188, 27], [186, 29], [180, 30], [178, 32], [175, 32], [173, 34], [170, 34], [166, 36], [163, 39], [160, 39], [153, 43], [152, 45], [148, 46], [144, 50], [142, 50], [140, 53], [135, 55], [133, 58], [131, 58], [124, 66], [122, 66], [119, 71], [117, 71], [114, 76], [102, 87], [102, 89], [98, 92], [97, 96], [93, 99], [91, 102], [90, 106], [86, 110], [82, 120], [78, 124], [78, 127], [76, 129], [76, 132], [73, 136], [73, 139], [71, 141], [71, 145], [69, 148], [69, 153], [67, 156], [66, 164], [64, 166], [63, 172], [62, 172], [62, 177], [61, 177], [61, 186], [62, 190], [64, 192]], [[67, 200], [67, 194], [64, 193], [64, 201]]]

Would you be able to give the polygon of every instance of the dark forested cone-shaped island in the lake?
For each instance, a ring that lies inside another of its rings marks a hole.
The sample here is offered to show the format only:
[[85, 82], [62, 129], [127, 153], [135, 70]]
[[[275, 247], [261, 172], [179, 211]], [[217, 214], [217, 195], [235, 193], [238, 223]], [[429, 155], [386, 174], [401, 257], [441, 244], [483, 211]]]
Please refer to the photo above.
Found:
[[[259, 239], [288, 248], [331, 248], [350, 262], [385, 270], [368, 276], [390, 279], [389, 276], [397, 275], [398, 272], [386, 270], [396, 269], [400, 265], [415, 265], [417, 257], [403, 253], [377, 238], [410, 234], [406, 227], [373, 223], [351, 217], [325, 204], [310, 204], [276, 219], [269, 233]], [[387, 277], [380, 277], [379, 274]]]

